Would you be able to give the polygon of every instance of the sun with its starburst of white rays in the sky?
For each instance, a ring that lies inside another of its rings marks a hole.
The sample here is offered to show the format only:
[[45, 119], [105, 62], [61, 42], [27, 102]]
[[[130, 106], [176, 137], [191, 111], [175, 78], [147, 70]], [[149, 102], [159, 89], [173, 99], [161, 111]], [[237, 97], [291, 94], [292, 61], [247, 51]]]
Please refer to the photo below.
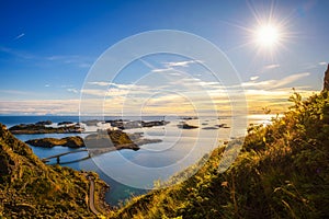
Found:
[[[243, 41], [230, 47], [227, 51], [246, 50], [252, 54], [246, 71], [258, 71], [261, 65], [280, 62], [280, 55], [291, 53], [290, 44], [294, 44], [300, 33], [294, 33], [293, 20], [295, 11], [285, 15], [281, 14], [275, 0], [270, 4], [256, 3], [247, 0], [247, 7], [251, 13], [250, 21], [228, 22], [220, 21], [227, 25], [241, 31]], [[251, 24], [253, 20], [253, 24]]]

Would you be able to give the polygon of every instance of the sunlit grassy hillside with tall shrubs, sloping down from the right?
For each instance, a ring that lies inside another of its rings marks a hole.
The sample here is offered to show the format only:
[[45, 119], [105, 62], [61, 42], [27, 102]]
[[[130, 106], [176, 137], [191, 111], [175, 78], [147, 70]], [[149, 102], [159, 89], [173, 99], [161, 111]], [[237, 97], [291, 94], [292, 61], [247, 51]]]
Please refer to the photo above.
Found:
[[112, 218], [329, 218], [329, 93], [291, 101], [284, 117], [249, 128], [228, 171], [217, 172], [219, 147], [188, 181], [135, 197]]

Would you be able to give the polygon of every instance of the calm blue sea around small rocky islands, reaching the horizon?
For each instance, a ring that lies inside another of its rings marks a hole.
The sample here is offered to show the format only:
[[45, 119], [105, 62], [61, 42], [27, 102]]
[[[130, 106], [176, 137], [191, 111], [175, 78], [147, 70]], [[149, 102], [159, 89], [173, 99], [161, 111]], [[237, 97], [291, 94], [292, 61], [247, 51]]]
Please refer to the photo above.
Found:
[[[170, 177], [188, 166], [206, 158], [216, 147], [224, 141], [246, 135], [249, 124], [270, 124], [274, 115], [249, 115], [246, 117], [117, 117], [105, 116], [104, 120], [162, 120], [169, 122], [166, 126], [126, 129], [126, 132], [139, 132], [147, 139], [160, 139], [161, 142], [140, 146], [137, 151], [120, 150], [101, 153], [88, 159], [88, 151], [69, 153], [60, 157], [60, 165], [75, 170], [94, 171], [110, 186], [105, 195], [111, 206], [124, 204], [128, 198], [145, 194], [159, 186], [159, 182], [167, 182]], [[52, 120], [52, 126], [60, 122], [81, 123], [92, 120], [93, 117], [79, 116], [0, 116], [0, 123], [8, 128], [19, 124], [34, 124], [43, 120]], [[179, 125], [189, 124], [196, 126], [194, 129], [182, 129]], [[86, 124], [84, 124], [86, 125]], [[105, 124], [106, 125], [106, 124]], [[109, 124], [107, 124], [109, 125]], [[84, 138], [98, 129], [107, 128], [100, 122], [84, 126], [88, 134], [42, 134], [42, 135], [15, 135], [22, 141], [37, 138], [64, 138], [68, 136], [81, 136]], [[55, 154], [76, 151], [67, 147], [41, 148], [30, 146], [33, 152], [41, 159]], [[87, 149], [93, 146], [87, 146]], [[49, 161], [55, 164], [56, 159]], [[195, 169], [196, 171], [197, 169]], [[193, 174], [193, 173], [191, 173]], [[164, 185], [164, 183], [162, 183]], [[169, 186], [169, 184], [166, 184]]]

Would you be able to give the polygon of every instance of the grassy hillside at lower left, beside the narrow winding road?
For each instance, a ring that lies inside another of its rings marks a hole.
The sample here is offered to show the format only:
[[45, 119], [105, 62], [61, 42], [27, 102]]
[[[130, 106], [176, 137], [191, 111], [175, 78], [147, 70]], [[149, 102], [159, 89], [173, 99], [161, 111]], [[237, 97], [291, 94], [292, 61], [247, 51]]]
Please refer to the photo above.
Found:
[[[0, 218], [95, 218], [87, 174], [45, 165], [0, 124]], [[98, 197], [104, 183], [94, 178]]]

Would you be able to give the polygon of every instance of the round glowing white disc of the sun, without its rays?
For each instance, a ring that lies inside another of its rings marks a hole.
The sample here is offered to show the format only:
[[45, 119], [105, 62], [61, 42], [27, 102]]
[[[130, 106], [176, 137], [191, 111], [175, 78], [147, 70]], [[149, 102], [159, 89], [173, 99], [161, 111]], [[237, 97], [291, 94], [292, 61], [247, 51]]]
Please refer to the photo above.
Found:
[[268, 49], [275, 48], [282, 39], [280, 28], [274, 24], [260, 25], [253, 37], [258, 46]]

